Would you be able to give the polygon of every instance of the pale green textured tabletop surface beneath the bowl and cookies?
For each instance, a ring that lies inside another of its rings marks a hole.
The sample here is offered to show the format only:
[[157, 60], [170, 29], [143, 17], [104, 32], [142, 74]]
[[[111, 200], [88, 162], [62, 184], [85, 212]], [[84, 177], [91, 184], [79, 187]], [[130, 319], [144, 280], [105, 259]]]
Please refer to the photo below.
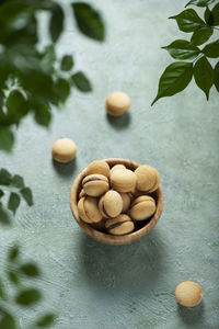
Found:
[[[185, 1], [112, 0], [95, 3], [107, 26], [101, 45], [77, 33], [70, 16], [58, 53], [73, 54], [94, 91], [73, 90], [55, 111], [50, 129], [28, 117], [18, 131], [12, 155], [0, 167], [24, 175], [35, 205], [22, 203], [13, 228], [0, 230], [0, 265], [5, 248], [20, 241], [26, 258], [43, 269], [36, 281], [44, 302], [18, 309], [22, 329], [39, 310], [55, 310], [54, 329], [216, 329], [219, 324], [219, 103], [207, 103], [194, 81], [181, 94], [150, 106], [158, 80], [172, 61], [161, 46], [177, 32], [170, 15]], [[68, 1], [62, 1], [67, 9]], [[68, 10], [67, 10], [68, 14]], [[130, 112], [108, 117], [104, 101], [127, 92]], [[73, 163], [55, 164], [50, 147], [60, 137], [78, 145]], [[87, 237], [72, 218], [69, 192], [76, 175], [94, 159], [124, 157], [149, 163], [161, 174], [164, 211], [155, 228], [129, 246], [105, 246]], [[201, 284], [203, 303], [177, 306], [175, 286]]]

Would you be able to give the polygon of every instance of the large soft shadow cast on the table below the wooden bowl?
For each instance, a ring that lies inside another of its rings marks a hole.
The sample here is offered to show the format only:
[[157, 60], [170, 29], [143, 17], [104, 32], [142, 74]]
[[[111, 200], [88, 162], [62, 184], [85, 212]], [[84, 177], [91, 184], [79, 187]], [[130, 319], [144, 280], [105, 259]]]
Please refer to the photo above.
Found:
[[142, 293], [151, 290], [162, 272], [165, 248], [159, 232], [151, 231], [131, 245], [110, 246], [82, 235], [79, 246], [80, 274], [95, 291]]

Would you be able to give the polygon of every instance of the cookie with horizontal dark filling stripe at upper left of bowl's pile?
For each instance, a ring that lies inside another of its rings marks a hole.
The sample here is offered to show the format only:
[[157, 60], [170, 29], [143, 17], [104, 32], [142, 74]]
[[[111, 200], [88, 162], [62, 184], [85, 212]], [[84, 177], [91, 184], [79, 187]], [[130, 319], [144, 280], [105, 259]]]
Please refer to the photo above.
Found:
[[101, 196], [108, 191], [108, 179], [103, 174], [89, 174], [82, 181], [85, 194], [90, 196]]

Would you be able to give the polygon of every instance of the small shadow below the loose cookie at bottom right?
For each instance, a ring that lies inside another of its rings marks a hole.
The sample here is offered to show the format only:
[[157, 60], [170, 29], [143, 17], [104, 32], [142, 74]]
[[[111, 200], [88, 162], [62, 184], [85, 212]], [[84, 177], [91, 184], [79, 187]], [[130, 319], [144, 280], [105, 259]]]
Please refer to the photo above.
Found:
[[177, 313], [182, 321], [192, 328], [195, 325], [205, 324], [205, 306], [203, 302], [196, 307], [184, 307], [178, 304]]

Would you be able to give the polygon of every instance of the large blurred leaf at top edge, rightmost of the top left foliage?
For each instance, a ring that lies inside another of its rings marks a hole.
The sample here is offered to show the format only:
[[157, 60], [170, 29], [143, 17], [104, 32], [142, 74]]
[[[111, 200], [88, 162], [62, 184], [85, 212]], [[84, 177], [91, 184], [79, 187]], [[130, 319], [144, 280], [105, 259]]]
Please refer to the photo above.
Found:
[[93, 39], [103, 42], [105, 31], [100, 13], [85, 2], [73, 2], [71, 5], [81, 33]]

